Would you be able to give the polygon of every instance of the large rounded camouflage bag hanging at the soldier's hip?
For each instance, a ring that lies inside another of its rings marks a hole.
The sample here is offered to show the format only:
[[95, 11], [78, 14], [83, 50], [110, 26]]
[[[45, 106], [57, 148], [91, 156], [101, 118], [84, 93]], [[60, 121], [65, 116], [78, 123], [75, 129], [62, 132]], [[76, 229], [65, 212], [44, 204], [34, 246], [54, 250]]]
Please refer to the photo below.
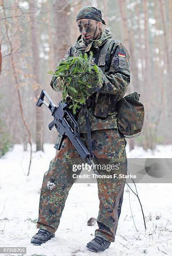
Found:
[[118, 129], [126, 138], [134, 138], [140, 135], [144, 116], [144, 106], [140, 102], [140, 95], [137, 92], [133, 92], [118, 101]]

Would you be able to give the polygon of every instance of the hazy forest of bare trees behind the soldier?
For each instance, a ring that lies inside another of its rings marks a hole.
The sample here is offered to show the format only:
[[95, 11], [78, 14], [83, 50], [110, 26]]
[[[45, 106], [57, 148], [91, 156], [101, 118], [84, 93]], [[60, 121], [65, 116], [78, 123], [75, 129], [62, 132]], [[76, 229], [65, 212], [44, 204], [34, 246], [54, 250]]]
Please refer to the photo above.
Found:
[[49, 110], [37, 108], [45, 89], [57, 104], [61, 95], [50, 87], [57, 63], [75, 44], [78, 10], [102, 10], [107, 30], [130, 54], [131, 82], [145, 106], [145, 123], [130, 149], [172, 143], [172, 1], [171, 0], [0, 0], [0, 156], [15, 143], [27, 147], [55, 143]]

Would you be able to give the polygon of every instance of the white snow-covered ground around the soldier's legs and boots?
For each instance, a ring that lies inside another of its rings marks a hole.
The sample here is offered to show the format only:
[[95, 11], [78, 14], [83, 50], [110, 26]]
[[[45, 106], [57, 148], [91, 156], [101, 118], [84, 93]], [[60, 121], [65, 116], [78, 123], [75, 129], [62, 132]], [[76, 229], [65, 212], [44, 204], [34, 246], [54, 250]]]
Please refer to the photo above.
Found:
[[[88, 251], [85, 245], [93, 239], [97, 228], [97, 224], [87, 226], [87, 220], [96, 218], [98, 214], [97, 184], [74, 184], [55, 238], [42, 246], [30, 244], [30, 238], [37, 232], [43, 174], [55, 156], [53, 145], [45, 144], [44, 148], [44, 153], [39, 151], [33, 154], [29, 177], [26, 176], [29, 152], [24, 152], [21, 145], [15, 145], [11, 152], [0, 159], [0, 247], [26, 247], [27, 256], [96, 255]], [[127, 156], [172, 158], [172, 145], [158, 146], [154, 155], [138, 147], [127, 152]], [[102, 256], [172, 255], [172, 185], [137, 184], [137, 190], [147, 230], [144, 228], [139, 202], [126, 186], [115, 243], [111, 243], [101, 253]]]

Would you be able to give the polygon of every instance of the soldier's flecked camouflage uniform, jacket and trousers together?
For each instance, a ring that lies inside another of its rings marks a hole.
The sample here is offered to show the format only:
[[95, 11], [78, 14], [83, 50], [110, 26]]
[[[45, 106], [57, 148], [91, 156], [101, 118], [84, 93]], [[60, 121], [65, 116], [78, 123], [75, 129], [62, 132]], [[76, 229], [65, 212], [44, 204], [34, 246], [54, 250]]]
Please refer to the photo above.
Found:
[[[101, 48], [109, 38], [112, 38], [112, 34], [105, 29], [103, 29], [99, 39], [90, 40], [87, 45], [79, 37], [77, 43], [70, 48], [65, 58], [74, 56], [78, 51], [89, 53], [90, 50], [93, 51], [95, 56], [95, 47]], [[105, 59], [105, 74], [102, 73], [102, 77], [104, 81], [102, 87], [91, 88], [89, 91], [90, 95], [99, 92], [101, 101], [104, 103], [106, 102], [103, 99], [107, 95], [114, 95], [118, 100], [125, 95], [130, 83], [130, 64], [128, 52], [120, 41], [112, 40], [110, 42]], [[55, 76], [52, 78], [51, 86], [54, 90], [61, 92], [60, 89], [62, 88], [57, 86], [56, 79]], [[92, 136], [92, 150], [95, 156], [97, 156], [99, 163], [117, 163], [120, 166], [118, 172], [126, 174], [126, 141], [117, 128], [117, 112], [109, 113], [105, 119], [95, 117], [92, 108], [88, 109], [88, 114]], [[80, 126], [82, 141], [86, 145], [87, 133], [85, 116], [82, 111], [79, 112], [77, 121]], [[37, 228], [43, 228], [51, 232], [57, 230], [65, 200], [73, 182], [75, 182], [72, 178], [72, 164], [77, 164], [77, 161], [80, 161], [80, 156], [70, 140], [66, 138], [60, 151], [57, 152], [55, 158], [50, 162], [49, 170], [44, 174]], [[117, 171], [111, 172], [116, 173]], [[79, 173], [80, 171], [76, 172], [76, 174]], [[99, 172], [99, 174], [102, 173], [103, 171]], [[97, 217], [99, 228], [95, 231], [95, 236], [101, 236], [110, 242], [115, 241], [125, 186], [124, 180], [113, 181], [112, 179], [97, 179], [100, 207]]]

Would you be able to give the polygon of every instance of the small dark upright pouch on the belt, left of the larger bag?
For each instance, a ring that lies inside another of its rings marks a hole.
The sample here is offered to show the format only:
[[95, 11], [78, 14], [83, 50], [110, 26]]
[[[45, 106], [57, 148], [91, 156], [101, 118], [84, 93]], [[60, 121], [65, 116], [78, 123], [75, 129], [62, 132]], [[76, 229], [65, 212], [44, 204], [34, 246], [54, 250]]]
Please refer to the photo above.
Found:
[[107, 118], [109, 108], [109, 97], [110, 96], [108, 93], [99, 93], [95, 107], [95, 116], [97, 118]]

